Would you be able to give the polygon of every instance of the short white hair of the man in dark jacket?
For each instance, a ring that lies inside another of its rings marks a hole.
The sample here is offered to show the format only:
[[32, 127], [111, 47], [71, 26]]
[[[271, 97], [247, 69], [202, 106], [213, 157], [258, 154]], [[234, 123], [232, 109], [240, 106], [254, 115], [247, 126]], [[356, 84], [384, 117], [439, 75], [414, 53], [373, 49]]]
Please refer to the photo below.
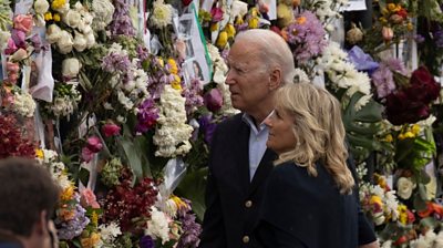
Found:
[[281, 69], [281, 85], [291, 83], [295, 75], [293, 55], [288, 43], [276, 32], [265, 29], [250, 29], [238, 33], [235, 41], [245, 41], [256, 45], [258, 54], [267, 69]]

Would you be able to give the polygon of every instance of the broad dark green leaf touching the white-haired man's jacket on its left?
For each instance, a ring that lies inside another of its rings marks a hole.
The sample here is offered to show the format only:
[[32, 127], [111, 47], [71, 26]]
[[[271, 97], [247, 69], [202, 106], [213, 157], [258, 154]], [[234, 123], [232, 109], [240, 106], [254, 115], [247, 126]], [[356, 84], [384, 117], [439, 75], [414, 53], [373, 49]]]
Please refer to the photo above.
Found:
[[188, 173], [178, 187], [176, 194], [189, 199], [193, 203], [193, 210], [199, 220], [205, 214], [205, 189], [206, 189], [207, 167]]

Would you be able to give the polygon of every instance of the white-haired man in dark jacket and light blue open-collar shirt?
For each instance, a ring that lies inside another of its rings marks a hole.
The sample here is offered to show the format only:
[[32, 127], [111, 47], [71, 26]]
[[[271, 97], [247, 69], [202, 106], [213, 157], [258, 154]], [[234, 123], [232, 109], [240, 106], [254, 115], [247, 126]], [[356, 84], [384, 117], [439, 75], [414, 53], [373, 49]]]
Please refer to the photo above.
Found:
[[[295, 64], [285, 40], [272, 31], [248, 30], [236, 37], [228, 55], [229, 85], [237, 114], [217, 126], [209, 156], [202, 248], [258, 247], [257, 226], [266, 180], [277, 155], [266, 147], [264, 121], [274, 95], [292, 82]], [[359, 244], [378, 247], [361, 215]]]

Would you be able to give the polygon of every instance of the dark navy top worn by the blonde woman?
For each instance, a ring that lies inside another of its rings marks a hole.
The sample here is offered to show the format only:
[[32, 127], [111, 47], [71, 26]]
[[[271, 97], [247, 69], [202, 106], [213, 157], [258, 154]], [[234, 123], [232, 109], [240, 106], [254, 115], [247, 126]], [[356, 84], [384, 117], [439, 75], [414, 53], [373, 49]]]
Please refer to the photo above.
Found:
[[[288, 162], [268, 179], [257, 239], [266, 248], [356, 248], [356, 195], [340, 194], [326, 167], [318, 175]], [[353, 194], [358, 194], [353, 192]]]

